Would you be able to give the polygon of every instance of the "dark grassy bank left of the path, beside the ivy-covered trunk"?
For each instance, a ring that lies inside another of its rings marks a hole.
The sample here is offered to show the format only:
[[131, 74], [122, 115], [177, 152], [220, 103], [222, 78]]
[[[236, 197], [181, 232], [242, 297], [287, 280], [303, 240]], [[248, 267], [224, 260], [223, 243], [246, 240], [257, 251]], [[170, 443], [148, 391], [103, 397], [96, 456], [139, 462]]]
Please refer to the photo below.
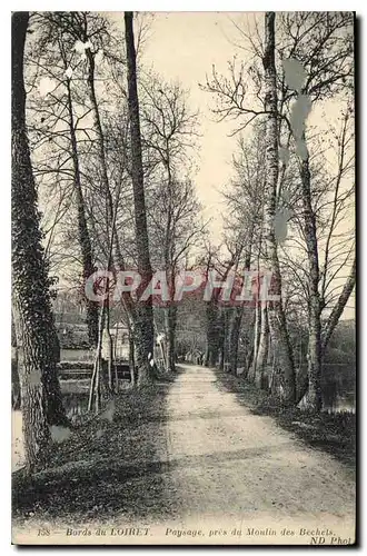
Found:
[[115, 515], [151, 517], [150, 493], [155, 500], [160, 494], [167, 498], [155, 465], [166, 446], [162, 424], [169, 388], [170, 381], [160, 380], [139, 393], [119, 394], [99, 416], [88, 417], [62, 441], [52, 443], [47, 468], [31, 478], [22, 469], [16, 471], [16, 523], [56, 519], [76, 526], [96, 518], [110, 522]]

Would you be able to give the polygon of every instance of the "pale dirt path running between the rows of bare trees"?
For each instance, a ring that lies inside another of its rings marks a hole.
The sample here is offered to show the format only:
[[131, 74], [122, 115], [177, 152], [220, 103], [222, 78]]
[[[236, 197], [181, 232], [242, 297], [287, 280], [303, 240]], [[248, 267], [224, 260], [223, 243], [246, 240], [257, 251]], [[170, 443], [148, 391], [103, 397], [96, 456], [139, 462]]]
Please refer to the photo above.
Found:
[[168, 395], [167, 451], [184, 527], [318, 526], [329, 539], [353, 536], [354, 479], [341, 464], [252, 415], [212, 370], [182, 368]]

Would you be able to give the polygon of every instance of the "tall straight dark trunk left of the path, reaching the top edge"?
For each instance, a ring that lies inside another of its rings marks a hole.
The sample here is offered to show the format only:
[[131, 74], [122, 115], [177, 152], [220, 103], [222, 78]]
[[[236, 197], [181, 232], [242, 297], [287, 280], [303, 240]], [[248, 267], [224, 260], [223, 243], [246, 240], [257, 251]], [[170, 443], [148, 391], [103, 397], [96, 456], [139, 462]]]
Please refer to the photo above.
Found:
[[[130, 118], [131, 141], [131, 177], [135, 205], [135, 228], [138, 251], [138, 270], [141, 284], [138, 297], [151, 280], [152, 271], [149, 256], [149, 240], [147, 228], [147, 212], [143, 189], [143, 169], [141, 157], [141, 136], [139, 119], [139, 100], [137, 88], [136, 50], [133, 43], [132, 12], [125, 12], [125, 39], [128, 64], [128, 103]], [[136, 361], [138, 367], [138, 386], [152, 381], [149, 354], [153, 354], [153, 316], [151, 298], [148, 301], [138, 301], [135, 321]]]

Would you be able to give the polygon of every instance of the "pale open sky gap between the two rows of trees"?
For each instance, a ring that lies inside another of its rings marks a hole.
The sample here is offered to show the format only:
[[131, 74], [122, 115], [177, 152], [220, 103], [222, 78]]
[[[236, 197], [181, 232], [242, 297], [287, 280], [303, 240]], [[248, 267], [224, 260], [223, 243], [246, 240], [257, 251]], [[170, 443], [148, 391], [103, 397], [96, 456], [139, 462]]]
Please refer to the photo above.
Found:
[[143, 62], [152, 64], [165, 79], [179, 80], [190, 91], [192, 109], [200, 111], [202, 137], [198, 140], [199, 170], [195, 181], [205, 218], [215, 218], [210, 228], [218, 239], [218, 211], [225, 209], [218, 190], [228, 182], [236, 140], [228, 137], [232, 126], [215, 122], [210, 112], [212, 97], [202, 91], [199, 83], [205, 82], [212, 64], [226, 71], [227, 61], [236, 50], [229, 41], [235, 31], [232, 18], [238, 20], [246, 16], [225, 12], [156, 13], [143, 51]]

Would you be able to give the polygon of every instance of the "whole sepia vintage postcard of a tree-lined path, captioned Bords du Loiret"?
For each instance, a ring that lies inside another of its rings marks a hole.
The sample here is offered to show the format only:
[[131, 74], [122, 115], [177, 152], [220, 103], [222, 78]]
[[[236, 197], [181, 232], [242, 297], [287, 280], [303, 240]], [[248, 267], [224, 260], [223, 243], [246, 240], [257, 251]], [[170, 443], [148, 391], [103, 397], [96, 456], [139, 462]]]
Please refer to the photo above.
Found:
[[355, 13], [11, 32], [12, 543], [355, 545]]

